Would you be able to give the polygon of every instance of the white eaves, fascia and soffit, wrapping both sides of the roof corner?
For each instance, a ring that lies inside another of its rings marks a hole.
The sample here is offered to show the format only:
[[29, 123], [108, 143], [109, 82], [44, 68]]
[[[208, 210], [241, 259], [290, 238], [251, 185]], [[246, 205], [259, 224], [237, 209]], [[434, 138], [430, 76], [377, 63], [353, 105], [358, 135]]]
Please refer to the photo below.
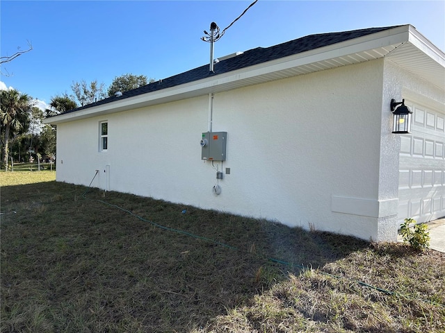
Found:
[[[191, 83], [149, 92], [92, 108], [60, 114], [44, 123], [64, 123], [204, 94], [309, 74], [359, 62], [388, 58], [416, 76], [445, 89], [445, 54], [410, 25], [347, 40], [293, 56], [210, 76]], [[217, 66], [217, 65], [216, 65]]]

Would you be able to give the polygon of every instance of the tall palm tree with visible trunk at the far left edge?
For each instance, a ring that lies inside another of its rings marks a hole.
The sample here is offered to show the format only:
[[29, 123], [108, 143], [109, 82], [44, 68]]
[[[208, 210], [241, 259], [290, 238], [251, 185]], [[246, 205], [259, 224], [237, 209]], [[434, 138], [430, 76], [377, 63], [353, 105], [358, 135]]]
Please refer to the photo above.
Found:
[[24, 128], [29, 121], [29, 109], [33, 105], [31, 97], [16, 89], [0, 91], [0, 121], [3, 132], [3, 163], [8, 170], [9, 137]]

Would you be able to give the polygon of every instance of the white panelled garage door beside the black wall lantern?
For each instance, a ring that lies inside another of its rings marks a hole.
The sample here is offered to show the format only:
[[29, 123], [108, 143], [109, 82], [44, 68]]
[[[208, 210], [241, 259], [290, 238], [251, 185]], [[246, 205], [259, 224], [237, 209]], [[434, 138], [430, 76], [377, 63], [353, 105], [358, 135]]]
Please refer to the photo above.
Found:
[[406, 103], [412, 133], [401, 135], [398, 219], [418, 223], [445, 216], [445, 113]]

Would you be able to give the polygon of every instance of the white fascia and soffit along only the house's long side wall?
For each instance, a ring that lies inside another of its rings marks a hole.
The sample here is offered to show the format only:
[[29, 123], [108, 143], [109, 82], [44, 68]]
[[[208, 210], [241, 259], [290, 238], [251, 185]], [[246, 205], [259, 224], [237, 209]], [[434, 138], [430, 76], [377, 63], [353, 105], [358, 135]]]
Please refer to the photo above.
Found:
[[[104, 114], [142, 108], [147, 105], [156, 105], [166, 103], [168, 101], [178, 101], [188, 97], [208, 94], [209, 92], [217, 90], [217, 87], [222, 87], [224, 85], [233, 86], [233, 83], [240, 80], [246, 80], [258, 76], [266, 76], [267, 74], [272, 74], [277, 71], [284, 71], [286, 69], [291, 69], [302, 65], [309, 65], [314, 62], [330, 60], [341, 56], [348, 56], [350, 54], [369, 51], [372, 49], [381, 49], [389, 46], [392, 46], [392, 49], [394, 49], [398, 45], [408, 41], [409, 30], [409, 25], [399, 26], [397, 28], [380, 31], [379, 33], [373, 33], [371, 35], [365, 35], [353, 40], [347, 40], [345, 42], [297, 53], [292, 56], [263, 62], [258, 65], [245, 67], [235, 71], [229, 71], [228, 73], [218, 74], [217, 76], [210, 76], [209, 78], [203, 78], [191, 83], [185, 83], [184, 85], [178, 85], [175, 87], [161, 89], [156, 92], [141, 94], [138, 96], [129, 97], [127, 99], [122, 99], [121, 101], [110, 102], [84, 110], [60, 114], [49, 119], [44, 119], [43, 122], [52, 124], [65, 123], [67, 121], [76, 121], [79, 119], [96, 117]], [[389, 52], [390, 51], [388, 51], [388, 53]], [[385, 56], [385, 54], [382, 56]], [[266, 80], [267, 79], [264, 81]], [[218, 90], [223, 91], [223, 89]]]

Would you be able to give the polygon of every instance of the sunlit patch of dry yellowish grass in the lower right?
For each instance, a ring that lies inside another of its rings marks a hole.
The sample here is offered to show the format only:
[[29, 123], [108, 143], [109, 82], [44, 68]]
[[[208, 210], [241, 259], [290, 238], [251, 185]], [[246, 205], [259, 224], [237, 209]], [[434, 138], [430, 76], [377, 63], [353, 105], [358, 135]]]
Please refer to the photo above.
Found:
[[290, 274], [197, 332], [444, 332], [444, 273], [440, 253], [379, 244]]

